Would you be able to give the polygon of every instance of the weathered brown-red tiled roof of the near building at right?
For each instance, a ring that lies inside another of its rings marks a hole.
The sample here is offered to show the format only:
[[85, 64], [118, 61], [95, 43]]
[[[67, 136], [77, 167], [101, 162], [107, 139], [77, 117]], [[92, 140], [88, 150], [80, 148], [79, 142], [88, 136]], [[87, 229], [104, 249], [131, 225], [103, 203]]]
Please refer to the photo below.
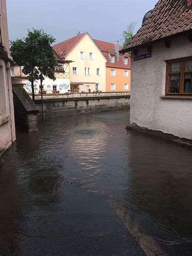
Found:
[[191, 32], [192, 9], [186, 10], [186, 8], [187, 0], [159, 0], [137, 34], [122, 52], [181, 32]]

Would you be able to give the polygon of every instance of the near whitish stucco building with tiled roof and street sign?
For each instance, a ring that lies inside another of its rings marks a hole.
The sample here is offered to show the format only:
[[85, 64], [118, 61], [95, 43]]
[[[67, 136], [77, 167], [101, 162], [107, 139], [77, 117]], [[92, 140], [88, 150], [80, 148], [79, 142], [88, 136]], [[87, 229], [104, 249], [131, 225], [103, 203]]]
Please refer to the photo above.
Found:
[[130, 50], [130, 127], [192, 143], [192, 0], [159, 0]]

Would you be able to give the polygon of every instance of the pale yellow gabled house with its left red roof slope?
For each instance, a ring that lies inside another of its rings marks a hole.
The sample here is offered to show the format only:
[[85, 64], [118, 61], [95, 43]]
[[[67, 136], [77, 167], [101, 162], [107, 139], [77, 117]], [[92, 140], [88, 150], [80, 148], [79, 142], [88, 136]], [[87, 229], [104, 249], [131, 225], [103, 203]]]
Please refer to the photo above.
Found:
[[106, 90], [106, 58], [86, 32], [53, 46], [70, 63], [71, 92]]

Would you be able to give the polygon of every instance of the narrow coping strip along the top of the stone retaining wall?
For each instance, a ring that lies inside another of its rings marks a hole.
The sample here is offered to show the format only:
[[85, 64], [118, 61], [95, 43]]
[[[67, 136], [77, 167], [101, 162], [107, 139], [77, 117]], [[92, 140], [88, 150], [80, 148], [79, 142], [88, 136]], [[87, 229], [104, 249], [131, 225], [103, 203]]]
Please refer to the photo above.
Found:
[[[130, 95], [110, 95], [110, 96], [94, 96], [94, 97], [74, 97], [74, 98], [51, 98], [43, 99], [43, 102], [57, 102], [57, 101], [79, 101], [79, 100], [107, 100], [107, 99], [119, 99], [130, 98]], [[41, 100], [35, 100], [35, 103], [41, 103]]]

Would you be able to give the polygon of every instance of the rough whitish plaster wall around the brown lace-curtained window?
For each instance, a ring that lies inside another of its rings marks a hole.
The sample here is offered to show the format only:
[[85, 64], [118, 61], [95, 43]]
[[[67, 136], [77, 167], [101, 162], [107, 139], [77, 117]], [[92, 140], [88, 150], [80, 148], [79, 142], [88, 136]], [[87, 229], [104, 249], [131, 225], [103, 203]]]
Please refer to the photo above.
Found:
[[[139, 49], [138, 55], [147, 53]], [[162, 99], [165, 95], [165, 60], [192, 56], [188, 36], [177, 36], [171, 47], [156, 43], [152, 58], [131, 62], [130, 124], [192, 139], [192, 99]]]

